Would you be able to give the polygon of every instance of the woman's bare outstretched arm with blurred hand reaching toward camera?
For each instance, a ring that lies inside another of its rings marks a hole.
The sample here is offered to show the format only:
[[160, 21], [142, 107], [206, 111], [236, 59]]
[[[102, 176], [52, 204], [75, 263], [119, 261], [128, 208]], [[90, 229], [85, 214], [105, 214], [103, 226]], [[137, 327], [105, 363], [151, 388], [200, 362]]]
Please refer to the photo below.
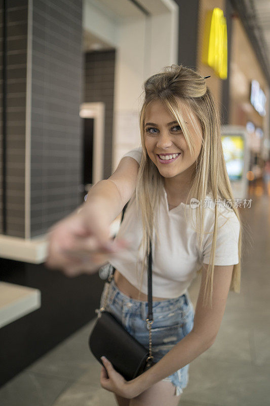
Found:
[[[138, 170], [139, 163], [133, 157], [123, 157], [109, 179], [92, 186], [77, 213], [49, 228], [48, 268], [62, 270], [71, 277], [93, 274], [107, 262], [112, 252], [110, 225], [131, 198]], [[119, 248], [121, 245], [113, 245], [113, 252]]]

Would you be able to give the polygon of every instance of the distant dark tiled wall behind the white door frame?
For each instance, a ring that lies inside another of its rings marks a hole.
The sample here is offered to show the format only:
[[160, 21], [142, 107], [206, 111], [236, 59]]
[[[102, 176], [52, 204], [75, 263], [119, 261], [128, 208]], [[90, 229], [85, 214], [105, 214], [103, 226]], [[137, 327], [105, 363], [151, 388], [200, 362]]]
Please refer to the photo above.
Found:
[[85, 54], [86, 103], [105, 103], [104, 173], [103, 179], [111, 175], [112, 157], [112, 112], [114, 89], [115, 50], [95, 51]]

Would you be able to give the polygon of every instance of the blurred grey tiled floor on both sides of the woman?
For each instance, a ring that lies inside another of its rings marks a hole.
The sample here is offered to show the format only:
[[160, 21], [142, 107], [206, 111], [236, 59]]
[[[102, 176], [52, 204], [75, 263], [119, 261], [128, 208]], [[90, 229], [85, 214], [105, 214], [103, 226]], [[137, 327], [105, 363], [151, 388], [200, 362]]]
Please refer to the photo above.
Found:
[[[270, 198], [242, 209], [246, 224], [241, 293], [229, 292], [214, 345], [190, 363], [180, 406], [270, 404]], [[200, 280], [189, 288], [196, 306]], [[2, 406], [115, 406], [88, 349], [94, 320], [0, 389]]]

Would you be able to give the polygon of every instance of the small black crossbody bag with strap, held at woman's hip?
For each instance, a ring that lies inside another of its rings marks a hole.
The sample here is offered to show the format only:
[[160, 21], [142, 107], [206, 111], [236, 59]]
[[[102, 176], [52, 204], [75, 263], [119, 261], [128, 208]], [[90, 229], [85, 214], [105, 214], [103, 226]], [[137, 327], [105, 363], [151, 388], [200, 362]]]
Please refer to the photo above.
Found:
[[[125, 205], [122, 213], [129, 202]], [[104, 265], [103, 265], [104, 266]], [[127, 381], [141, 375], [146, 369], [154, 365], [152, 356], [151, 325], [152, 315], [152, 250], [150, 242], [150, 252], [147, 257], [148, 274], [148, 314], [146, 318], [146, 328], [149, 331], [149, 350], [142, 346], [125, 329], [125, 327], [108, 311], [106, 311], [109, 284], [113, 279], [115, 268], [110, 265], [112, 272], [106, 279], [107, 290], [104, 305], [97, 309], [98, 317], [92, 332], [89, 336], [89, 348], [96, 359], [103, 365], [101, 356], [104, 355]], [[101, 267], [102, 268], [102, 267]]]

